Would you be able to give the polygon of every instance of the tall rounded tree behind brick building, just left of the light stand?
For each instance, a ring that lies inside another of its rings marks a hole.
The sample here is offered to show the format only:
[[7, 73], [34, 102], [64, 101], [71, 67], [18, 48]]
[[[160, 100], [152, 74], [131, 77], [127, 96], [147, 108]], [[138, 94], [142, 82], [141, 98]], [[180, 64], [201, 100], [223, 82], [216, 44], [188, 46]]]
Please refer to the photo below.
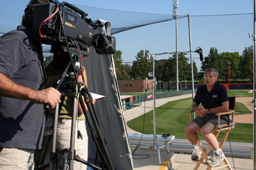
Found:
[[147, 60], [148, 50], [140, 50], [136, 55], [136, 60], [132, 63], [131, 78], [143, 80], [149, 78], [148, 73], [152, 72], [152, 62]]

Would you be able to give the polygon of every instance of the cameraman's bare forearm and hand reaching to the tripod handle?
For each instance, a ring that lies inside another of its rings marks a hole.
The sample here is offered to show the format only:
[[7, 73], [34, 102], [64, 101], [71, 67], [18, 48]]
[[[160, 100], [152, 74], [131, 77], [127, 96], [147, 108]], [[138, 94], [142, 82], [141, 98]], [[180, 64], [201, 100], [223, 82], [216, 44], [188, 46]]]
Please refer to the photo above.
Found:
[[0, 96], [29, 100], [37, 104], [50, 104], [52, 108], [60, 103], [60, 92], [54, 88], [33, 90], [13, 82], [0, 73]]

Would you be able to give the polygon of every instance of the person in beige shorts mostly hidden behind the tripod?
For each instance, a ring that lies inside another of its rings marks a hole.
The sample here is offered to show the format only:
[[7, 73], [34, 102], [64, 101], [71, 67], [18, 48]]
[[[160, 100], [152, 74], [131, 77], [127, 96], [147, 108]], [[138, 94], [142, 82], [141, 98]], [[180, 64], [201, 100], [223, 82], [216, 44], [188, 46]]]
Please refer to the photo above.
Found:
[[[70, 58], [68, 53], [59, 53], [58, 55], [54, 54], [52, 62], [47, 66], [47, 74], [49, 75], [49, 79], [46, 83], [47, 87], [54, 86], [54, 83], [59, 80], [59, 77], [67, 66]], [[82, 70], [81, 70], [82, 69]], [[82, 66], [79, 71], [77, 71], [77, 81], [84, 82], [87, 87], [87, 78], [86, 78], [86, 69]], [[82, 75], [83, 74], [83, 75]], [[83, 80], [84, 78], [84, 80]], [[68, 81], [68, 80], [65, 80]], [[74, 87], [75, 88], [75, 87]], [[67, 90], [67, 89], [65, 89]], [[72, 127], [72, 113], [74, 107], [74, 96], [64, 96], [61, 99], [62, 103], [60, 104], [60, 113], [58, 118], [57, 125], [57, 139], [56, 139], [56, 150], [57, 152], [61, 152], [64, 149], [70, 148], [70, 138], [71, 138], [71, 127]], [[95, 100], [93, 99], [93, 104]], [[84, 103], [86, 110], [88, 108]], [[54, 110], [49, 111], [49, 115], [47, 117], [47, 122], [45, 127], [52, 128], [54, 120]], [[77, 135], [78, 134], [78, 135]], [[83, 110], [81, 105], [78, 102], [77, 108], [77, 120], [76, 120], [76, 138], [75, 138], [75, 150], [76, 155], [78, 155], [81, 159], [88, 160], [88, 136], [86, 132], [86, 124], [85, 124], [85, 116], [83, 114]], [[48, 153], [50, 150], [48, 151]], [[47, 155], [49, 156], [49, 154]], [[62, 157], [58, 157], [59, 164], [58, 167], [61, 169], [62, 166]], [[47, 157], [45, 164], [49, 163], [49, 157]], [[74, 161], [73, 169], [82, 170], [86, 169], [86, 165], [81, 162]]]

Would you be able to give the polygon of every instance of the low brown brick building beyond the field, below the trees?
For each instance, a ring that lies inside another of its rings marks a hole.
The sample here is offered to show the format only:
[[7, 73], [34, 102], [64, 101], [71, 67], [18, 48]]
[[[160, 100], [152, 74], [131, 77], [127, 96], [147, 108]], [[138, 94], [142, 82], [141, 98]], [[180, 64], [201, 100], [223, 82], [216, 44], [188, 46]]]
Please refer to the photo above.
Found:
[[118, 80], [120, 92], [145, 92], [153, 90], [153, 80]]

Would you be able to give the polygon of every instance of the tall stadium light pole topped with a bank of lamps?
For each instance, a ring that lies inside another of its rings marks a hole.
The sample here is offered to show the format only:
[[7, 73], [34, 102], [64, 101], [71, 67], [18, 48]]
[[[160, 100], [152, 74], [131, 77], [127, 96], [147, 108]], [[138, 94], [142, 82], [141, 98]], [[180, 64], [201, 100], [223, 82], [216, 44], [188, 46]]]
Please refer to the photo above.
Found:
[[179, 53], [178, 53], [178, 8], [179, 0], [173, 0], [173, 11], [172, 17], [175, 18], [175, 30], [176, 30], [176, 82], [177, 82], [177, 92], [179, 92]]

